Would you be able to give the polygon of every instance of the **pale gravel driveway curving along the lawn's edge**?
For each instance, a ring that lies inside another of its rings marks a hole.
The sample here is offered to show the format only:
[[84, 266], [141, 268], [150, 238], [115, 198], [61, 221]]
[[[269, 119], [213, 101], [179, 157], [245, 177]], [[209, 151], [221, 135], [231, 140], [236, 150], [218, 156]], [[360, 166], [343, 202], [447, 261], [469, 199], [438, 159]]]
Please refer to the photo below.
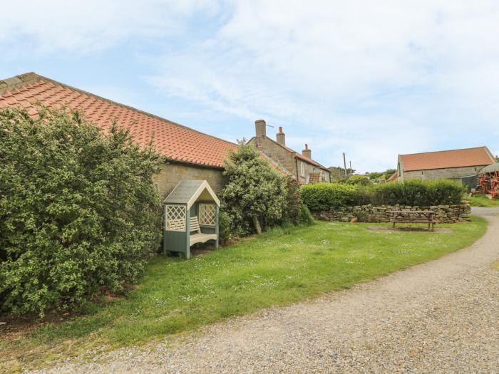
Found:
[[[492, 210], [475, 211], [488, 214]], [[499, 213], [499, 209], [495, 211]], [[499, 216], [468, 249], [50, 373], [499, 373]]]

